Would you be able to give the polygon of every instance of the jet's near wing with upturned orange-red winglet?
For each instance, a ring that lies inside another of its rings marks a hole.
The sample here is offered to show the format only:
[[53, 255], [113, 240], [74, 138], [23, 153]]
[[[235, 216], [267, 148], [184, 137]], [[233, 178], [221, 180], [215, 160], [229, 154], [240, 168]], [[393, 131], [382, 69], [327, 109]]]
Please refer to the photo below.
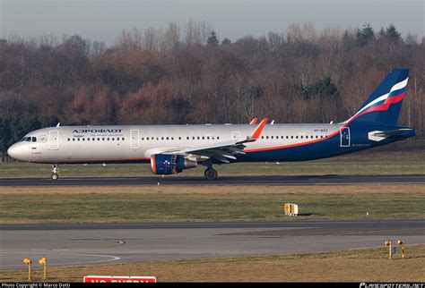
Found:
[[256, 130], [246, 140], [222, 141], [208, 146], [181, 148], [178, 150], [164, 151], [162, 153], [173, 152], [191, 154], [200, 157], [212, 158], [222, 163], [230, 163], [229, 159], [236, 160], [236, 157], [234, 156], [235, 154], [245, 154], [245, 143], [254, 142], [260, 137], [261, 132], [265, 127], [265, 123], [267, 123], [267, 118], [263, 119], [263, 121], [258, 124]]

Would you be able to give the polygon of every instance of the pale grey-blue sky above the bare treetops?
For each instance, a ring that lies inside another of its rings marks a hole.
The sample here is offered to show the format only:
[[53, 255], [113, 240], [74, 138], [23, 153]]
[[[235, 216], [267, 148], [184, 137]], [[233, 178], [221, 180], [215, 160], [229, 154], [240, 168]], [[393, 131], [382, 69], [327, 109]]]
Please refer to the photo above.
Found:
[[171, 21], [183, 29], [189, 19], [211, 23], [219, 39], [232, 41], [304, 22], [319, 32], [393, 23], [403, 37], [425, 36], [425, 0], [0, 0], [0, 17], [0, 38], [78, 34], [107, 45], [122, 30], [165, 30]]

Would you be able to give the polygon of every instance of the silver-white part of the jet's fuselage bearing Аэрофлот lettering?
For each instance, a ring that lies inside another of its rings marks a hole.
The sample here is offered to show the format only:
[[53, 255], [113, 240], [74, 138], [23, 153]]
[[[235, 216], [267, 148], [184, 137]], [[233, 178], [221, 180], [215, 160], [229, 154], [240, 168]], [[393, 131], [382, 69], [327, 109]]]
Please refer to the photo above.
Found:
[[[323, 123], [266, 124], [258, 140], [245, 144], [245, 152], [325, 140], [340, 127]], [[164, 151], [246, 140], [255, 129], [256, 125], [249, 124], [50, 127], [31, 131], [24, 137], [31, 137], [30, 141], [13, 144], [8, 153], [34, 163], [143, 162]]]

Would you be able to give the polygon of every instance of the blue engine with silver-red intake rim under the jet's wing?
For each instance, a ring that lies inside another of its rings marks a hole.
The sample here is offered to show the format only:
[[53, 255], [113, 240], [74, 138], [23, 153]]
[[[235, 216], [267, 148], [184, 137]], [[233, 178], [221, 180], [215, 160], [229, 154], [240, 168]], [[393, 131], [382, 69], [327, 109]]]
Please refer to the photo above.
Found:
[[187, 159], [181, 155], [153, 154], [151, 157], [151, 170], [153, 174], [178, 174], [184, 169], [194, 168], [196, 165], [196, 161]]

